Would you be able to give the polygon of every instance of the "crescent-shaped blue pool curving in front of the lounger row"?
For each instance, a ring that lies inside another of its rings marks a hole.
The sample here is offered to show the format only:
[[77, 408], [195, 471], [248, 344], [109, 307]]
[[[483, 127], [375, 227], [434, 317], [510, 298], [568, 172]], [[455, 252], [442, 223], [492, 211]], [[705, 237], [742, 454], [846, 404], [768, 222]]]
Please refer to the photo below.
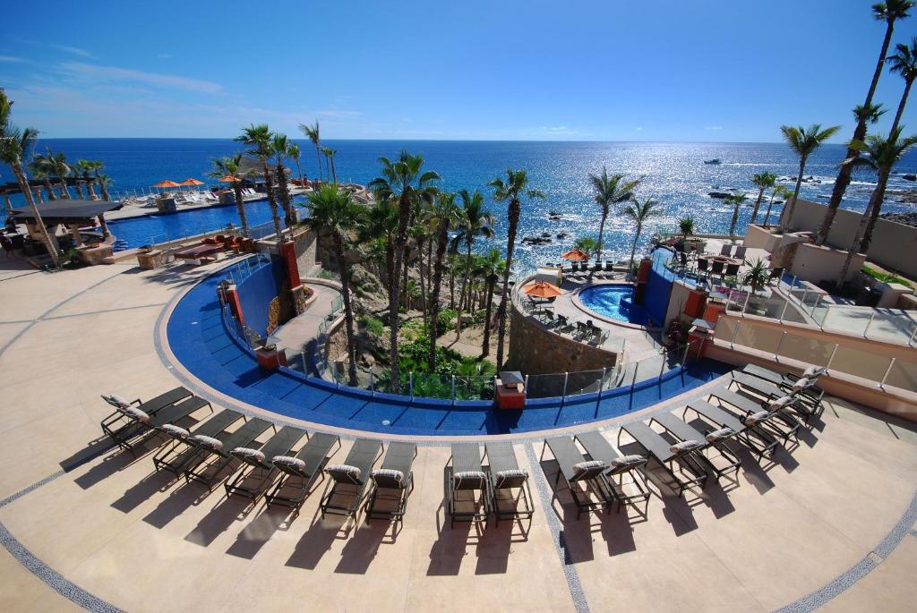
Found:
[[226, 269], [216, 271], [175, 306], [166, 324], [172, 354], [211, 389], [263, 410], [326, 426], [420, 436], [550, 430], [646, 409], [699, 387], [729, 369], [702, 359], [633, 387], [526, 400], [524, 410], [495, 410], [488, 400], [412, 399], [354, 389], [285, 367], [262, 371], [248, 345], [227, 326], [217, 301], [216, 286], [228, 276]]

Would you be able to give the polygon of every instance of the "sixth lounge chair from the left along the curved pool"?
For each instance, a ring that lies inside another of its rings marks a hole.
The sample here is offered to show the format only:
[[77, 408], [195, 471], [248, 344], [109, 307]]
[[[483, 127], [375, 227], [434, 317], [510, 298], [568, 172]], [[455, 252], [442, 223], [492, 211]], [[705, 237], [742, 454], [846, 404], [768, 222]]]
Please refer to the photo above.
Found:
[[325, 476], [325, 465], [340, 446], [340, 439], [334, 434], [316, 432], [294, 456], [273, 456], [271, 464], [281, 472], [281, 476], [264, 497], [268, 509], [271, 505], [282, 505], [298, 513], [315, 481]]

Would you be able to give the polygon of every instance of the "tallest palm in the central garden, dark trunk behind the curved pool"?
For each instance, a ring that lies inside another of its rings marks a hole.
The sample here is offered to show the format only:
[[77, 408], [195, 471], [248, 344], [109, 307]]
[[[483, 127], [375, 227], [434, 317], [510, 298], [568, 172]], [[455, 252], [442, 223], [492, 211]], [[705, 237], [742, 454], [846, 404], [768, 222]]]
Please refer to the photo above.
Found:
[[395, 161], [381, 157], [381, 176], [370, 181], [369, 187], [375, 192], [377, 200], [391, 198], [398, 203], [398, 229], [395, 234], [394, 257], [392, 262], [392, 283], [389, 287], [389, 319], [391, 347], [389, 360], [392, 368], [392, 392], [398, 393], [398, 296], [401, 294], [401, 272], [404, 262], [404, 249], [407, 246], [407, 228], [411, 222], [413, 204], [418, 200], [431, 200], [436, 194], [434, 182], [439, 175], [433, 170], [423, 170], [424, 157], [410, 155], [402, 151]]

